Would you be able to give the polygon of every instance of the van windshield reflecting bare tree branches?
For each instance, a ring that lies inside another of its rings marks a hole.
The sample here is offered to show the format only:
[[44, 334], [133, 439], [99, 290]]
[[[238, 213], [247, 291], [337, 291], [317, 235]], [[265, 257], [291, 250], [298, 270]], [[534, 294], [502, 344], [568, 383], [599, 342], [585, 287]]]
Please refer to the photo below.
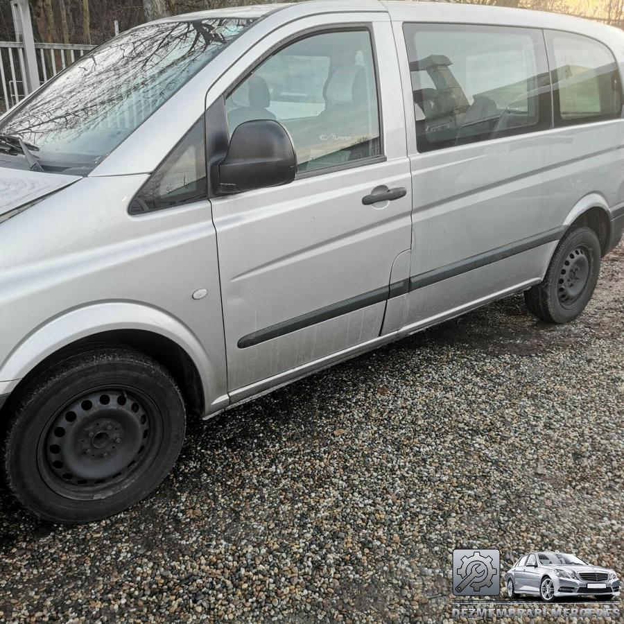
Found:
[[23, 159], [19, 137], [45, 171], [88, 173], [253, 21], [162, 21], [115, 37], [6, 116], [0, 135], [14, 140], [0, 157]]

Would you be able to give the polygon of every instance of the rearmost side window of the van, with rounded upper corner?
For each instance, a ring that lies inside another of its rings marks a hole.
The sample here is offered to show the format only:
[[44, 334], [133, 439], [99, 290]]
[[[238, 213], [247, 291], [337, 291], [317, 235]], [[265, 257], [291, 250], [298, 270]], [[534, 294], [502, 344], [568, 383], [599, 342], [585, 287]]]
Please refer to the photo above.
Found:
[[546, 31], [553, 80], [555, 125], [615, 119], [622, 112], [620, 76], [613, 54], [600, 42]]

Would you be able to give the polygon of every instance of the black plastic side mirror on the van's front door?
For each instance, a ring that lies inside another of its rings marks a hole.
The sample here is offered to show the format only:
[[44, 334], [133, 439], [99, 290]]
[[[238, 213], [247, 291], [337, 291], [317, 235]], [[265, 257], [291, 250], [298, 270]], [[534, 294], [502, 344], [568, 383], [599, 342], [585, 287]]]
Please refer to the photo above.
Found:
[[297, 156], [281, 123], [257, 119], [241, 123], [229, 141], [227, 155], [216, 163], [215, 190], [223, 195], [288, 184], [297, 173]]

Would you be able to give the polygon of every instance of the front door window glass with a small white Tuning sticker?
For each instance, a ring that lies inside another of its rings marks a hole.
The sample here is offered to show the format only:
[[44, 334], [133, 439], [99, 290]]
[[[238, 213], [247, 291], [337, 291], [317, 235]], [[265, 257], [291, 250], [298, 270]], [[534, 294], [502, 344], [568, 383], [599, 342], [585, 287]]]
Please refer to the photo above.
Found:
[[299, 172], [381, 155], [369, 31], [320, 33], [285, 46], [234, 87], [225, 110], [230, 135], [254, 119], [284, 125]]

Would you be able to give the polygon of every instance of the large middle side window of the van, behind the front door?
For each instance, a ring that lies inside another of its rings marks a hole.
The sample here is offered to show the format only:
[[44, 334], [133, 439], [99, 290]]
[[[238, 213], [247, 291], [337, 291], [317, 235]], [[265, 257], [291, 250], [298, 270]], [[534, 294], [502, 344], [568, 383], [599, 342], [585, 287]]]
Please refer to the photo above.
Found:
[[419, 152], [551, 127], [541, 31], [405, 24]]

